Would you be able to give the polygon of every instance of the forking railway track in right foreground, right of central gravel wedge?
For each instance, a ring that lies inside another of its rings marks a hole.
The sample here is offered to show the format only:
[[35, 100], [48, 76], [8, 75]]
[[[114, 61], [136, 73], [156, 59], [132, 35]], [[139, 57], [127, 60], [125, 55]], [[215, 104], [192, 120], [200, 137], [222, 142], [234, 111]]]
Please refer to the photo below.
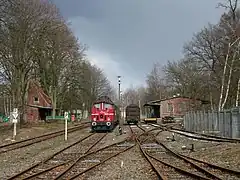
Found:
[[[239, 171], [219, 167], [172, 151], [156, 140], [156, 134], [159, 132], [145, 131], [136, 139], [143, 156], [159, 179], [240, 179]], [[143, 138], [143, 135], [149, 137]]]

